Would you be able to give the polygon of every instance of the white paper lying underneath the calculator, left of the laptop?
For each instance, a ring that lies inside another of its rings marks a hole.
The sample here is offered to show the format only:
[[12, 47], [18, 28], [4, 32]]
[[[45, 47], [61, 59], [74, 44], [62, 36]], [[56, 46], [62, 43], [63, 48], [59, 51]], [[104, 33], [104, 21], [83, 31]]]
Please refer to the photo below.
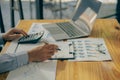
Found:
[[[47, 24], [47, 23], [44, 23]], [[44, 41], [44, 42], [56, 42], [55, 39], [51, 36], [51, 34], [45, 30], [42, 26], [42, 23], [33, 23], [28, 31], [28, 34], [33, 34], [33, 33], [39, 33], [40, 31], [44, 31], [44, 35], [42, 37], [42, 39], [40, 39], [40, 41], [38, 41], [38, 44], [27, 44], [32, 45], [31, 48], [33, 48], [33, 46], [38, 46], [40, 45], [40, 42]], [[8, 47], [8, 49], [6, 50], [6, 53], [15, 53], [17, 48], [18, 48], [19, 44], [18, 44], [18, 40], [14, 40], [11, 42], [10, 46]], [[31, 49], [30, 48], [30, 49]]]

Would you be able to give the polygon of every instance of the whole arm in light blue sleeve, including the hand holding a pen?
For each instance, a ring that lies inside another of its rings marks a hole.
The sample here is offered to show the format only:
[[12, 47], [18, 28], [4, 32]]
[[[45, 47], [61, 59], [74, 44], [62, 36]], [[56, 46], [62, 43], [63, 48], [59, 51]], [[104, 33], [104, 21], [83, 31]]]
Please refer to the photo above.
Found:
[[38, 46], [32, 50], [19, 53], [6, 53], [0, 55], [0, 73], [11, 71], [20, 66], [28, 64], [34, 61], [45, 61], [56, 52], [57, 46], [53, 44], [46, 44], [44, 46]]

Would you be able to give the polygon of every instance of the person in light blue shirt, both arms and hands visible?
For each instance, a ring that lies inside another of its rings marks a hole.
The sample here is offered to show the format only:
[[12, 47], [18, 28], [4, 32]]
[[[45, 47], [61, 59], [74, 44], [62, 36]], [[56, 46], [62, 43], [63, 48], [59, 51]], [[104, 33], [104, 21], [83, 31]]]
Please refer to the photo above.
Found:
[[[10, 29], [6, 33], [0, 35], [0, 44], [3, 44], [4, 41], [11, 41], [19, 38], [20, 36], [27, 36], [27, 33], [22, 29]], [[11, 71], [20, 66], [28, 64], [29, 62], [45, 61], [54, 55], [54, 53], [57, 51], [57, 48], [57, 45], [45, 44], [42, 47], [38, 46], [29, 51], [22, 51], [15, 54], [0, 54], [0, 73]]]

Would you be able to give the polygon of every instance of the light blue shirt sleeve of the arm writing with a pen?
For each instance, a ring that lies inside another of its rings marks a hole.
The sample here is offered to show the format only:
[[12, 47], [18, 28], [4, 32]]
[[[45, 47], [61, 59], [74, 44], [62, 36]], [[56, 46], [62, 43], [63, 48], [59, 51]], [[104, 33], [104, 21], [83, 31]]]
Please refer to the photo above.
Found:
[[0, 73], [16, 69], [25, 64], [28, 64], [27, 52], [0, 55]]

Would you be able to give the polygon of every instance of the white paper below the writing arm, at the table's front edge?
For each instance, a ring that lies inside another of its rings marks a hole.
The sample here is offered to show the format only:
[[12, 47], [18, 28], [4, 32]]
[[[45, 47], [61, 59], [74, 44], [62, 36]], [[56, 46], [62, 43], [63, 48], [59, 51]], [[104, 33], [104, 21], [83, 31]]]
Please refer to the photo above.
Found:
[[55, 80], [57, 61], [30, 63], [9, 73], [6, 80]]

